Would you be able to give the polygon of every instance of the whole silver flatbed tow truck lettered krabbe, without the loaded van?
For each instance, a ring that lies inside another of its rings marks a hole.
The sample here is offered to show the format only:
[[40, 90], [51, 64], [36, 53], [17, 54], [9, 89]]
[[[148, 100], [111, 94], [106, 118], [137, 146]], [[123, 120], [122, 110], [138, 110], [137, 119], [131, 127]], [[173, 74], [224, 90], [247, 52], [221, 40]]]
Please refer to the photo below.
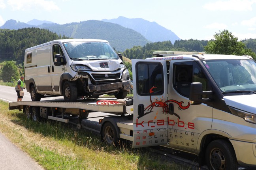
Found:
[[[250, 56], [154, 52], [132, 60], [134, 97], [21, 101], [27, 118], [72, 123], [133, 148], [165, 146], [198, 155], [199, 166], [256, 166], [256, 62]], [[91, 112], [110, 115], [88, 118]]]

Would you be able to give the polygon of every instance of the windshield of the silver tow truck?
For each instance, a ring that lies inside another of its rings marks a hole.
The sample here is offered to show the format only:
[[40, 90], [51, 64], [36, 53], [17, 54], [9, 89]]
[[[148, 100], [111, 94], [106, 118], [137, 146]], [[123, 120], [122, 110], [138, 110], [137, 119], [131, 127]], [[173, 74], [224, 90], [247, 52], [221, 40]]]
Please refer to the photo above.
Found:
[[222, 93], [255, 92], [256, 62], [254, 60], [204, 60]]

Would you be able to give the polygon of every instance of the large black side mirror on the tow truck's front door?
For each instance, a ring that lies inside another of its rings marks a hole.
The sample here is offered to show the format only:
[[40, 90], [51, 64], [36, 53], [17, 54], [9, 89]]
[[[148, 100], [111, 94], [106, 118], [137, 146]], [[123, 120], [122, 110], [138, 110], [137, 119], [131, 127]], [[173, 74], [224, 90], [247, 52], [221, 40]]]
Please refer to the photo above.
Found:
[[200, 105], [203, 101], [211, 101], [210, 98], [203, 98], [203, 95], [212, 95], [213, 91], [203, 91], [203, 85], [200, 82], [193, 82], [190, 84], [189, 100], [191, 105]]

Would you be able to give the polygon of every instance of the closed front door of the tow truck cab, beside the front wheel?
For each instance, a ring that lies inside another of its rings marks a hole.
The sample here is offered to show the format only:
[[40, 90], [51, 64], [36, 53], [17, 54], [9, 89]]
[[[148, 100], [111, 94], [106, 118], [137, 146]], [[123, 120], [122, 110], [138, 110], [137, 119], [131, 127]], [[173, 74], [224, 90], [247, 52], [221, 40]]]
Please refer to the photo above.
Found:
[[196, 153], [200, 134], [211, 129], [213, 104], [190, 105], [190, 84], [201, 82], [208, 91], [209, 82], [194, 60], [171, 60], [169, 81], [169, 147]]

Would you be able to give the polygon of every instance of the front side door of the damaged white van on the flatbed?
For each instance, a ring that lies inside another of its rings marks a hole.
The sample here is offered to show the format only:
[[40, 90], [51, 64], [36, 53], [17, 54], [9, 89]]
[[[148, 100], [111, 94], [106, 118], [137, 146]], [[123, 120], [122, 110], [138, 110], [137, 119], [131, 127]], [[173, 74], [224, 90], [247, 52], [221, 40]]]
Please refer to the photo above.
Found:
[[[51, 82], [52, 82], [52, 89], [54, 94], [60, 94], [60, 77], [63, 73], [65, 73], [65, 66], [66, 65], [54, 65], [54, 56], [56, 54], [60, 54], [64, 56], [63, 50], [61, 49], [58, 43], [52, 43], [52, 54], [51, 54]], [[65, 57], [65, 56], [64, 56]]]

